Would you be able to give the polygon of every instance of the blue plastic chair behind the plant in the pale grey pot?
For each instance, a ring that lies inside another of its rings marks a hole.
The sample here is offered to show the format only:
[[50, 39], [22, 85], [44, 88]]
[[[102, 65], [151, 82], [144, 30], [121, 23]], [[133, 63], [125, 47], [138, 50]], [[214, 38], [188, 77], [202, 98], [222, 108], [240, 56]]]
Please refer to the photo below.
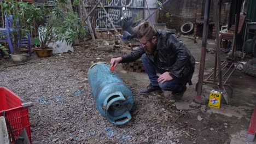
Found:
[[[5, 28], [8, 29], [9, 31], [9, 35], [10, 32], [13, 31], [13, 29], [11, 28], [11, 24], [13, 23], [13, 15], [5, 15]], [[19, 20], [16, 20], [19, 21]], [[28, 47], [28, 51], [30, 53], [31, 56], [31, 37], [30, 37], [30, 31], [26, 30], [26, 29], [22, 29], [22, 31], [26, 31], [26, 36], [27, 37], [23, 37], [21, 39], [18, 40], [18, 46], [27, 46]], [[10, 38], [12, 39], [12, 38]], [[20, 42], [20, 43], [19, 43]]]

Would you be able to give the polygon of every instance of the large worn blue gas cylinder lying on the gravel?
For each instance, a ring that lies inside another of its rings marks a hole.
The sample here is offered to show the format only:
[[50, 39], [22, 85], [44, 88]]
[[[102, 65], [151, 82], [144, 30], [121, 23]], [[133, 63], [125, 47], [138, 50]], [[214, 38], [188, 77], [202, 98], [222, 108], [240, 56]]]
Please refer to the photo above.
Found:
[[91, 65], [88, 80], [97, 109], [113, 124], [125, 124], [130, 121], [133, 105], [131, 89], [125, 85], [110, 65], [98, 62]]

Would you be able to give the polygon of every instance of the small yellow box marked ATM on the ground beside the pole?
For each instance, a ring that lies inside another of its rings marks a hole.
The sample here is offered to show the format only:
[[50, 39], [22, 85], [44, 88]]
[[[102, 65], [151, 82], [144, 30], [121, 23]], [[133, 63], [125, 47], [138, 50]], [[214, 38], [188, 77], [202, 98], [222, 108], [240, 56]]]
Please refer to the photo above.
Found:
[[221, 97], [222, 97], [222, 94], [220, 92], [212, 90], [210, 92], [208, 105], [219, 109]]

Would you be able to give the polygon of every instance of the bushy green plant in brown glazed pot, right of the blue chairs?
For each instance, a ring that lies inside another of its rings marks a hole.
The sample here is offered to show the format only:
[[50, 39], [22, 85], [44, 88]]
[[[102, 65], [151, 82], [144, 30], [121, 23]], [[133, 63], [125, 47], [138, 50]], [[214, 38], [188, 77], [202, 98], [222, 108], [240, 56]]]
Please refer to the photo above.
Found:
[[44, 11], [43, 13], [47, 17], [45, 24], [38, 28], [40, 47], [34, 49], [38, 57], [52, 55], [53, 48], [49, 47], [51, 43], [60, 40], [73, 46], [74, 41], [86, 32], [83, 27], [85, 24], [79, 19], [77, 13], [67, 8], [65, 11], [60, 3], [65, 2], [51, 1], [43, 5], [38, 4], [38, 7]]

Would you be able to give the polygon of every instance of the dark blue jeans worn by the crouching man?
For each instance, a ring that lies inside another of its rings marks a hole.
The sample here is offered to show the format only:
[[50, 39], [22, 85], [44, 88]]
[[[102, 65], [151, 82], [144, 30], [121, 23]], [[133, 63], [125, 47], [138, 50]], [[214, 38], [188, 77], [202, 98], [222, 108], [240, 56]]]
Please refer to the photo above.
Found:
[[161, 84], [158, 82], [158, 75], [156, 75], [156, 71], [160, 74], [165, 73], [167, 70], [158, 68], [154, 62], [152, 62], [144, 53], [142, 55], [142, 63], [148, 74], [148, 78], [153, 86], [159, 86], [164, 91], [172, 91], [173, 93], [179, 93], [184, 91], [183, 83], [181, 78], [174, 78], [171, 81], [165, 81]]

